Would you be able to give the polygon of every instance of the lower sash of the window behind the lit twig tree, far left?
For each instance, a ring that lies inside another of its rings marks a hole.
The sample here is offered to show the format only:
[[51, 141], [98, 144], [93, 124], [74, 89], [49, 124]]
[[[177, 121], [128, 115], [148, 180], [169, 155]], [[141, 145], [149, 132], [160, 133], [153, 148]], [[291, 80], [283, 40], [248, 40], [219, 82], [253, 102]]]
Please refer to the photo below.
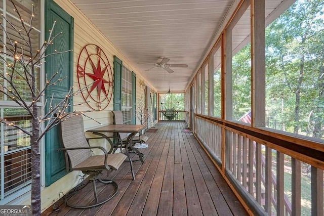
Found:
[[[31, 132], [31, 118], [20, 108], [2, 108], [1, 118], [13, 121], [15, 124]], [[18, 191], [31, 182], [31, 149], [30, 138], [10, 125], [1, 125], [1, 192], [4, 197]], [[3, 197], [2, 196], [2, 197]]]

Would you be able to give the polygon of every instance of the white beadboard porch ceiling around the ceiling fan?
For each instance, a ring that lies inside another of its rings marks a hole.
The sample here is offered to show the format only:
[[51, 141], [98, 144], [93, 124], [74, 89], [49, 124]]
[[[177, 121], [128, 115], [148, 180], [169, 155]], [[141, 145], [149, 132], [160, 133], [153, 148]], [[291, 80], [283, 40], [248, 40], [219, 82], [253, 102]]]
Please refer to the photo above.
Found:
[[[71, 2], [133, 63], [154, 89], [165, 92], [170, 88], [171, 92], [179, 92], [185, 90], [234, 1]], [[281, 2], [268, 0], [266, 16]], [[187, 64], [188, 67], [172, 67], [174, 73], [161, 68], [145, 71], [156, 66], [159, 57], [169, 58], [169, 64]]]

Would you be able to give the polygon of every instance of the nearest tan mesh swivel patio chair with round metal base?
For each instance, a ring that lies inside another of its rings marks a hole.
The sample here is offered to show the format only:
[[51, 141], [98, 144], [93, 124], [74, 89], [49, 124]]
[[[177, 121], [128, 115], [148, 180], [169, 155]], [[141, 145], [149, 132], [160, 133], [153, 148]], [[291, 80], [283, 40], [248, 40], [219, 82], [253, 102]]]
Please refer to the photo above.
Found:
[[[104, 170], [117, 170], [121, 163], [127, 158], [124, 154], [108, 154], [106, 149], [101, 146], [89, 146], [85, 133], [83, 118], [76, 115], [61, 122], [61, 136], [64, 148], [57, 149], [64, 151], [66, 171], [80, 170], [88, 175], [88, 183], [77, 188], [83, 189], [90, 182], [93, 184], [94, 202], [88, 205], [75, 205], [69, 202], [71, 197], [66, 199], [66, 204], [73, 208], [90, 208], [103, 204], [114, 197], [118, 191], [118, 184], [111, 180], [101, 179]], [[92, 155], [91, 149], [101, 149], [103, 155]], [[113, 192], [105, 196], [103, 200], [98, 200], [96, 182], [111, 184]], [[73, 196], [74, 194], [72, 194]]]

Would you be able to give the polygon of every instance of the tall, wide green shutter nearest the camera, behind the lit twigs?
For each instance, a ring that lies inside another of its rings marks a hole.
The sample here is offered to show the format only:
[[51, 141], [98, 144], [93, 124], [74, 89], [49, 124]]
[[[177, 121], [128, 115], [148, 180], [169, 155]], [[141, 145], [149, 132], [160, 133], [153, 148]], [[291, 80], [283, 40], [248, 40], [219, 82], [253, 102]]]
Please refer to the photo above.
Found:
[[[45, 2], [45, 40], [48, 40], [49, 33], [55, 23], [52, 35], [62, 32], [54, 41], [53, 45], [49, 46], [46, 53], [52, 54], [73, 49], [73, 17], [68, 15], [62, 8], [60, 8], [53, 0], [46, 0]], [[45, 113], [49, 110], [49, 102], [54, 96], [53, 103], [62, 101], [67, 95], [70, 87], [73, 85], [73, 52], [64, 54], [50, 55], [46, 59], [45, 73], [47, 77], [52, 77], [58, 72], [55, 80], [58, 78], [65, 78], [56, 85], [52, 85], [47, 89], [45, 97], [47, 105]], [[72, 101], [70, 102], [73, 103]], [[53, 105], [54, 105], [53, 104]], [[72, 110], [68, 110], [72, 111]], [[56, 151], [61, 148], [62, 143], [59, 138], [59, 127], [51, 129], [45, 136], [45, 169], [46, 169], [46, 186], [62, 178], [65, 174], [65, 162], [62, 152]]]

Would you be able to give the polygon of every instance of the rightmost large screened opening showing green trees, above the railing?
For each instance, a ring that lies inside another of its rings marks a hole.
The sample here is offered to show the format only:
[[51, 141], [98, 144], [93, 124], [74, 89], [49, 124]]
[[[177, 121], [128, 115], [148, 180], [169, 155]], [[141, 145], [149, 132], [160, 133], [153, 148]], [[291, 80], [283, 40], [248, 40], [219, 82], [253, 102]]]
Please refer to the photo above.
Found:
[[296, 1], [266, 28], [266, 126], [324, 139], [324, 2]]

